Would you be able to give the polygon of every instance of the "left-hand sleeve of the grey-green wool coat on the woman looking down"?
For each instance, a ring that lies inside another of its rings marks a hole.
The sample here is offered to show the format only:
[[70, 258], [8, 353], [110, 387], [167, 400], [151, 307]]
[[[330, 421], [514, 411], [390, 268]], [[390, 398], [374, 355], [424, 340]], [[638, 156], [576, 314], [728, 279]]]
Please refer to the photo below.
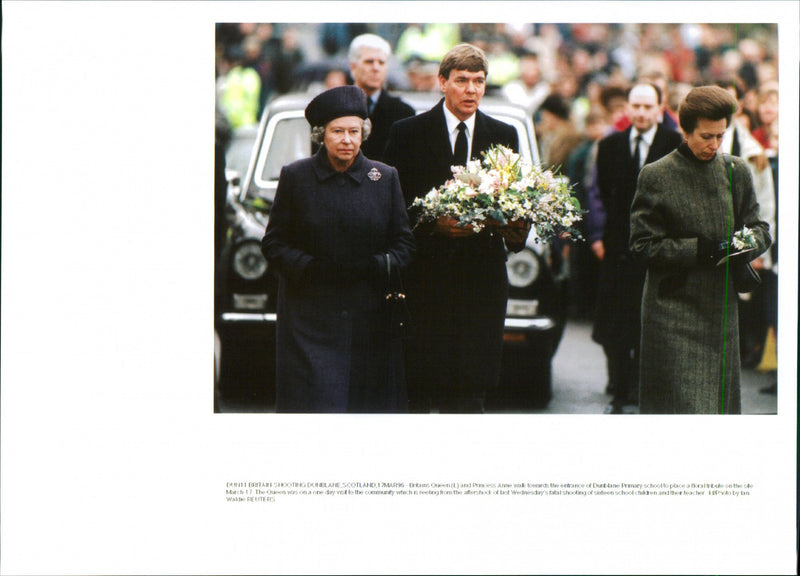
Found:
[[631, 204], [630, 250], [647, 265], [688, 268], [697, 263], [697, 238], [670, 237], [666, 210], [660, 205], [666, 196], [663, 186], [663, 173], [645, 165]]

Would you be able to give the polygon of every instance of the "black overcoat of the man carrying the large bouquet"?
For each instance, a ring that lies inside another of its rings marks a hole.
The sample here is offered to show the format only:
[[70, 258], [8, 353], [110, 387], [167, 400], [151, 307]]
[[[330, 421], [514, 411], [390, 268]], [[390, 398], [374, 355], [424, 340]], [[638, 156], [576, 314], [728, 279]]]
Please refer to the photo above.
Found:
[[[384, 159], [400, 174], [406, 206], [452, 178], [453, 149], [443, 106], [444, 99], [392, 126]], [[480, 159], [494, 144], [517, 151], [517, 131], [478, 110], [472, 158]], [[503, 239], [486, 230], [452, 239], [420, 228], [415, 236], [417, 257], [407, 282], [409, 386], [433, 393], [484, 391], [497, 384], [502, 358], [508, 298]]]

